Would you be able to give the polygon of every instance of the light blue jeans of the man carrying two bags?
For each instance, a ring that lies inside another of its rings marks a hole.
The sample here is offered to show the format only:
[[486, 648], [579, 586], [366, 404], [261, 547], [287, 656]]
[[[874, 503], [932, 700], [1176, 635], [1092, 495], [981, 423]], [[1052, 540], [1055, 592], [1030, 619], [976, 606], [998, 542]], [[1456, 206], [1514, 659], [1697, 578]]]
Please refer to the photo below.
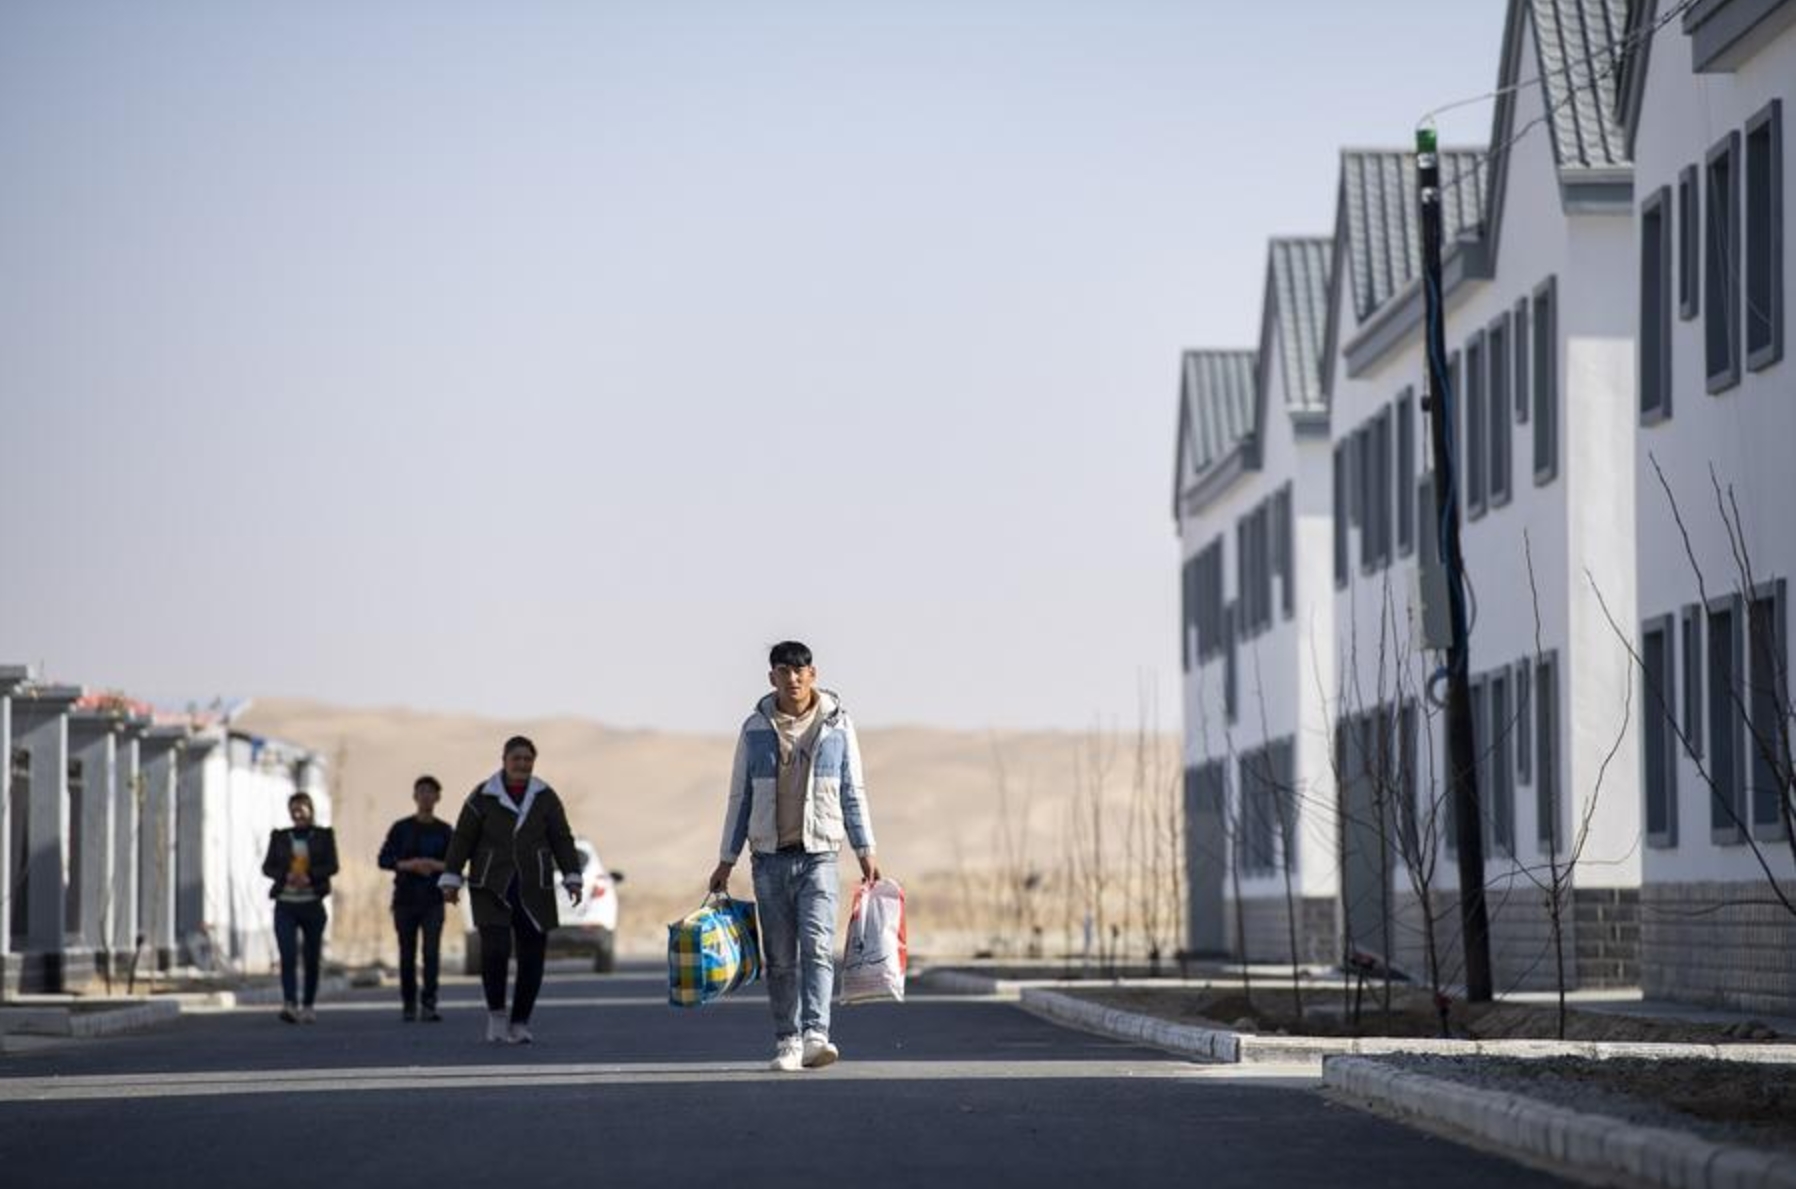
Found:
[[754, 902], [774, 1036], [830, 1031], [835, 990], [835, 851], [754, 855]]

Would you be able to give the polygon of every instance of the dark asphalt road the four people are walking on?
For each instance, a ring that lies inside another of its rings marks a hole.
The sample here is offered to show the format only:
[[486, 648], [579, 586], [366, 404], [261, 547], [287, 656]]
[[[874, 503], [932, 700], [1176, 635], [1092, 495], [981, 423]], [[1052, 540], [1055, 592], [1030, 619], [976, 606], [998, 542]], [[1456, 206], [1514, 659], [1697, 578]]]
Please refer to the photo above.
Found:
[[914, 993], [837, 1011], [842, 1063], [774, 1074], [765, 1002], [675, 1011], [663, 977], [551, 975], [539, 1044], [481, 1042], [397, 991], [183, 1017], [0, 1056], [0, 1182], [354, 1185], [1550, 1185], [1342, 1106], [1313, 1079], [1203, 1067]]

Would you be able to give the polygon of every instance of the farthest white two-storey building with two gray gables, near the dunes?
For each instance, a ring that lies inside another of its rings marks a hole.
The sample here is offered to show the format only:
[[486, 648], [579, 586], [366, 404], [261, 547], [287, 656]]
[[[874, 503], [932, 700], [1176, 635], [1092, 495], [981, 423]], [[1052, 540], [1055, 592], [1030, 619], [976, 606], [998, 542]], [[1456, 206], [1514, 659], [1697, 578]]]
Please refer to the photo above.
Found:
[[[1279, 239], [1259, 350], [1187, 352], [1175, 521], [1184, 591], [1189, 939], [1329, 963], [1331, 490], [1320, 356], [1331, 248]], [[1320, 641], [1320, 643], [1318, 643]]]

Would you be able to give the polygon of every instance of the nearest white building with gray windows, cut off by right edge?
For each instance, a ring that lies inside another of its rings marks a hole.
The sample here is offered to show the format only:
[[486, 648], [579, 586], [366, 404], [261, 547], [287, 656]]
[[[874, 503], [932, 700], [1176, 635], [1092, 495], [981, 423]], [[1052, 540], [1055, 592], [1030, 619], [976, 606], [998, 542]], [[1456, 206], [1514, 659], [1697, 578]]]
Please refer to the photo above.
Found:
[[[1629, 7], [1636, 29], [1668, 11]], [[1620, 95], [1640, 316], [1642, 975], [1652, 997], [1796, 1013], [1796, 912], [1771, 887], [1796, 903], [1796, 2], [1670, 14]]]

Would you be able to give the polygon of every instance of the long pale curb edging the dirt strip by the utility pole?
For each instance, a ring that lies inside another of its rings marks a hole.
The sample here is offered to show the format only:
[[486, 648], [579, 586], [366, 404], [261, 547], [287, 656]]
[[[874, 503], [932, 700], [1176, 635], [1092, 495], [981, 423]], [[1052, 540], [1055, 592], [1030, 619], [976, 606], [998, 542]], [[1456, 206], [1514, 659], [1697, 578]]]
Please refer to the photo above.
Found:
[[1018, 993], [1024, 1011], [1070, 1024], [1117, 1040], [1137, 1040], [1169, 1049], [1200, 1061], [1239, 1061], [1243, 1065], [1311, 1065], [1320, 1070], [1333, 1056], [1426, 1054], [1426, 1056], [1582, 1056], [1613, 1058], [1699, 1058], [1708, 1061], [1796, 1063], [1796, 1045], [1676, 1045], [1579, 1040], [1424, 1040], [1401, 1036], [1261, 1036], [1200, 1024], [1173, 1024], [1122, 1008], [1106, 1008], [1087, 999], [1045, 988], [1026, 986]]

